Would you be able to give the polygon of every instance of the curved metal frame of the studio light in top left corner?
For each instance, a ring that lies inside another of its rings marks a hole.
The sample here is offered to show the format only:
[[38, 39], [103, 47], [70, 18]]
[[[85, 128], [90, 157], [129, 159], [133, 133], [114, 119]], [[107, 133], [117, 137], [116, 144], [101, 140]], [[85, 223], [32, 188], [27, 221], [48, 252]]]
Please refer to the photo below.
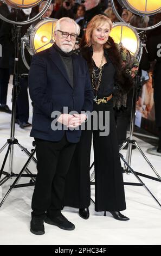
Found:
[[[47, 3], [44, 6], [44, 8], [42, 9], [42, 11], [40, 11], [40, 13], [36, 14], [35, 17], [33, 17], [33, 18], [31, 18], [31, 19], [29, 19], [27, 21], [11, 21], [11, 20], [7, 19], [6, 17], [4, 17], [2, 14], [0, 14], [0, 19], [2, 19], [5, 22], [11, 23], [11, 24], [15, 24], [15, 25], [20, 25], [20, 26], [21, 25], [28, 25], [28, 24], [33, 23], [36, 20], [40, 19], [40, 17], [43, 16], [44, 13], [46, 13], [47, 9], [49, 8], [49, 6], [51, 4], [51, 1], [52, 0], [47, 0]], [[21, 9], [26, 9], [26, 8], [21, 8]]]

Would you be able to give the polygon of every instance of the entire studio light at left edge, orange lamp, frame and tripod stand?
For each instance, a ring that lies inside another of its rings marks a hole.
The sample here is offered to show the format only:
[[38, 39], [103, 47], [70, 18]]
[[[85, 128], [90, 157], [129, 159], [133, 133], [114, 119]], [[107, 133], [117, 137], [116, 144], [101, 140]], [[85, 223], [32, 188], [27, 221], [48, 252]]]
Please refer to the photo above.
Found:
[[[1, 1], [1, 0], [0, 0]], [[7, 2], [6, 4], [8, 4], [8, 1], [3, 1], [4, 3]], [[9, 1], [10, 2], [10, 1]], [[12, 7], [14, 9], [17, 10], [17, 15], [18, 15], [18, 9], [23, 10], [25, 8], [33, 8], [34, 6], [40, 4], [40, 1], [30, 1], [29, 3], [24, 3], [24, 1], [22, 1], [22, 3], [14, 3], [12, 1]], [[18, 53], [19, 53], [19, 48], [20, 48], [20, 42], [21, 42], [21, 26], [22, 25], [28, 25], [32, 22], [35, 22], [36, 20], [40, 19], [40, 17], [42, 17], [44, 15], [44, 13], [46, 13], [47, 9], [49, 8], [51, 4], [51, 0], [47, 0], [46, 4], [44, 4], [44, 7], [42, 8], [42, 10], [36, 14], [35, 17], [31, 18], [31, 19], [27, 19], [24, 21], [17, 21], [17, 17], [16, 17], [16, 21], [14, 20], [9, 20], [6, 17], [4, 17], [2, 14], [0, 14], [0, 19], [2, 19], [5, 22], [8, 22], [12, 25], [15, 25], [15, 62], [14, 62], [14, 81], [13, 81], [13, 89], [12, 89], [12, 115], [11, 115], [11, 132], [10, 132], [10, 138], [7, 140], [7, 143], [5, 143], [3, 145], [3, 147], [0, 149], [0, 154], [2, 153], [2, 151], [8, 146], [8, 150], [7, 153], [5, 154], [3, 163], [2, 163], [2, 168], [0, 169], [0, 179], [2, 174], [5, 175], [5, 177], [0, 180], [0, 186], [2, 184], [4, 184], [5, 181], [7, 181], [8, 179], [12, 178], [12, 177], [17, 177], [14, 181], [14, 183], [10, 186], [10, 189], [8, 190], [8, 192], [5, 194], [2, 202], [0, 203], [0, 207], [2, 206], [4, 200], [7, 198], [8, 194], [10, 193], [10, 191], [12, 190], [12, 188], [15, 187], [23, 187], [23, 186], [33, 186], [35, 183], [35, 177], [36, 175], [31, 174], [30, 170], [28, 169], [28, 164], [30, 163], [31, 160], [33, 160], [35, 163], [37, 163], [37, 160], [34, 157], [35, 154], [35, 149], [31, 150], [32, 153], [30, 153], [26, 148], [24, 148], [20, 143], [18, 143], [18, 140], [15, 138], [15, 116], [16, 116], [16, 99], [17, 99], [17, 93], [18, 93], [18, 88], [19, 88], [19, 78], [22, 77], [22, 75], [18, 75]], [[18, 26], [17, 26], [18, 25]], [[19, 174], [15, 174], [12, 171], [12, 163], [13, 163], [13, 157], [14, 157], [14, 146], [18, 145], [18, 147], [21, 149], [21, 151], [23, 151], [27, 156], [29, 156], [28, 161], [24, 164], [21, 172]], [[34, 144], [33, 144], [34, 145]], [[5, 163], [7, 161], [7, 158], [9, 156], [9, 171], [8, 172], [4, 172], [4, 166]], [[26, 172], [27, 174], [23, 174], [23, 172]], [[27, 184], [20, 184], [20, 185], [16, 185], [16, 183], [18, 182], [18, 180], [21, 178], [21, 176], [24, 177], [30, 177], [31, 180], [29, 183]]]

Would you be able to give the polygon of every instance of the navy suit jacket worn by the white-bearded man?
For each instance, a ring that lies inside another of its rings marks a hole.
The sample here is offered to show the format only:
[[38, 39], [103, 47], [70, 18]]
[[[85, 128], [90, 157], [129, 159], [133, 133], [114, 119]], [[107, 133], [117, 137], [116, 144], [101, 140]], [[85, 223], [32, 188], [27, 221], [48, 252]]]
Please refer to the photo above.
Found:
[[[72, 54], [74, 88], [59, 53], [51, 46], [34, 55], [29, 71], [29, 92], [34, 102], [31, 137], [47, 141], [60, 141], [65, 130], [52, 130], [51, 113], [68, 107], [69, 111], [92, 111], [93, 89], [85, 59]], [[67, 140], [79, 142], [80, 130], [67, 130]]]

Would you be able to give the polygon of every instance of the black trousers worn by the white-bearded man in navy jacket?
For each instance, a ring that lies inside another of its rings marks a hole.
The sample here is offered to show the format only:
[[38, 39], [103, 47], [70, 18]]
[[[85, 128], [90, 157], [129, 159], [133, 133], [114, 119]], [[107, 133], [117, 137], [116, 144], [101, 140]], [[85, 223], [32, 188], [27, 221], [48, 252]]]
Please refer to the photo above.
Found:
[[69, 143], [66, 135], [59, 142], [35, 138], [37, 178], [31, 207], [34, 215], [43, 216], [46, 211], [52, 218], [60, 215], [65, 179], [72, 159], [75, 143]]

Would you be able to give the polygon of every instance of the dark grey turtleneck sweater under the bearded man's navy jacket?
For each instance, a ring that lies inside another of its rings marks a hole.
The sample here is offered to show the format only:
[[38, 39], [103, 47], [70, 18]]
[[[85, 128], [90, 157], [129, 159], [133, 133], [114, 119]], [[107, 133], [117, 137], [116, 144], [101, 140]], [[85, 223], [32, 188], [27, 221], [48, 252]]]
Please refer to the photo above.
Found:
[[73, 78], [73, 61], [72, 61], [72, 54], [73, 51], [70, 52], [63, 52], [54, 42], [55, 50], [60, 54], [63, 64], [67, 70], [67, 74], [69, 77], [69, 81], [71, 86], [74, 88], [74, 78]]

